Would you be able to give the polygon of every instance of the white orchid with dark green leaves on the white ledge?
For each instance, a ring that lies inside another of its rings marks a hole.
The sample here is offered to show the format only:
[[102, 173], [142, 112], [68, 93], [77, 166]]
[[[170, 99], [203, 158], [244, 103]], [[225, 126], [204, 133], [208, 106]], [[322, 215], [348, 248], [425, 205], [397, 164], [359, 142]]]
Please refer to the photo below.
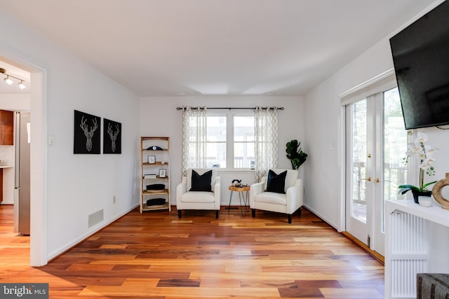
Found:
[[415, 200], [415, 203], [418, 203], [418, 197], [419, 196], [431, 196], [432, 191], [427, 190], [427, 186], [431, 185], [432, 183], [436, 183], [436, 181], [432, 181], [430, 183], [424, 183], [424, 172], [428, 176], [434, 176], [435, 175], [435, 169], [431, 165], [435, 159], [431, 158], [431, 156], [437, 151], [437, 148], [431, 148], [431, 146], [424, 144], [428, 141], [427, 134], [424, 134], [422, 132], [418, 132], [417, 139], [413, 142], [413, 144], [410, 144], [408, 146], [407, 151], [407, 157], [404, 158], [404, 162], [407, 163], [408, 159], [410, 157], [417, 158], [420, 160], [420, 178], [419, 183], [420, 186], [413, 186], [413, 185], [401, 185], [399, 186], [399, 193], [402, 195], [407, 193], [408, 191], [412, 191], [413, 193], [413, 199]]

